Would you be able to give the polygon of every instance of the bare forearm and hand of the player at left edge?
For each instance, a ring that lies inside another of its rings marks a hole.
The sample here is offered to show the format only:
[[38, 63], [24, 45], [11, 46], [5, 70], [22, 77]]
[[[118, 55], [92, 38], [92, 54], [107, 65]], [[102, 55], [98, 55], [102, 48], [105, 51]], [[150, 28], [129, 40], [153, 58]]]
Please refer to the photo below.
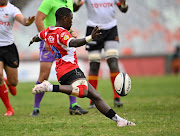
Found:
[[29, 26], [34, 22], [35, 16], [25, 18], [22, 14], [19, 14], [19, 15], [16, 16], [15, 20], [18, 21], [19, 23], [21, 23], [24, 26]]

